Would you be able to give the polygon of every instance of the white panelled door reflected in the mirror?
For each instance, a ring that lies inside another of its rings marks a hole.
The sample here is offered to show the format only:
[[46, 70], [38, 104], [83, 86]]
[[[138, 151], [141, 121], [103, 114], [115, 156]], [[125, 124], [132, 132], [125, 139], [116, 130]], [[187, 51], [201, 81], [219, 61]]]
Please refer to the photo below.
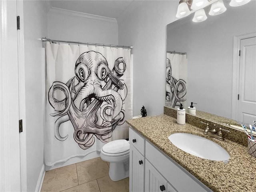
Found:
[[254, 120], [256, 120], [256, 37], [241, 40], [238, 100], [238, 121], [253, 124]]

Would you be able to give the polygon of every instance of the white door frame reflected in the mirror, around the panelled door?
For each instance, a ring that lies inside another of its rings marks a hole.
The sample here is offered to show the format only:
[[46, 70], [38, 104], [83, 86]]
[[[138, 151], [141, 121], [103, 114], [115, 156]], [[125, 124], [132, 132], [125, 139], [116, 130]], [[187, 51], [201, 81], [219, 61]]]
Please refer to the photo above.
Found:
[[232, 85], [232, 107], [231, 107], [231, 118], [234, 120], [238, 119], [238, 91], [239, 91], [239, 72], [240, 72], [240, 56], [239, 50], [241, 40], [256, 37], [256, 32], [234, 36], [233, 41], [233, 85]]

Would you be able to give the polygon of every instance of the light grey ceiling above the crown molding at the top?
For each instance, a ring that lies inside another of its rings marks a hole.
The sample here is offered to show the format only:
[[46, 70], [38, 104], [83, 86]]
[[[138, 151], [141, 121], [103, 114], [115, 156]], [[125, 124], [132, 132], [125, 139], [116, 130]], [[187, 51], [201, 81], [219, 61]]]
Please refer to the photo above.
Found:
[[117, 19], [134, 0], [50, 0], [53, 8]]

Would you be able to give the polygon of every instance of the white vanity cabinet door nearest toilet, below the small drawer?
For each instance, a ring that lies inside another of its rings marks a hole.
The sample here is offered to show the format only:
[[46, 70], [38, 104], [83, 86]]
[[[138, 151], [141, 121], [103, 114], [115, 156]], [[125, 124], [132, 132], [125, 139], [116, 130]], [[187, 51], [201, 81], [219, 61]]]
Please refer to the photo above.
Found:
[[131, 192], [144, 191], [144, 156], [130, 145], [130, 178], [129, 188]]

